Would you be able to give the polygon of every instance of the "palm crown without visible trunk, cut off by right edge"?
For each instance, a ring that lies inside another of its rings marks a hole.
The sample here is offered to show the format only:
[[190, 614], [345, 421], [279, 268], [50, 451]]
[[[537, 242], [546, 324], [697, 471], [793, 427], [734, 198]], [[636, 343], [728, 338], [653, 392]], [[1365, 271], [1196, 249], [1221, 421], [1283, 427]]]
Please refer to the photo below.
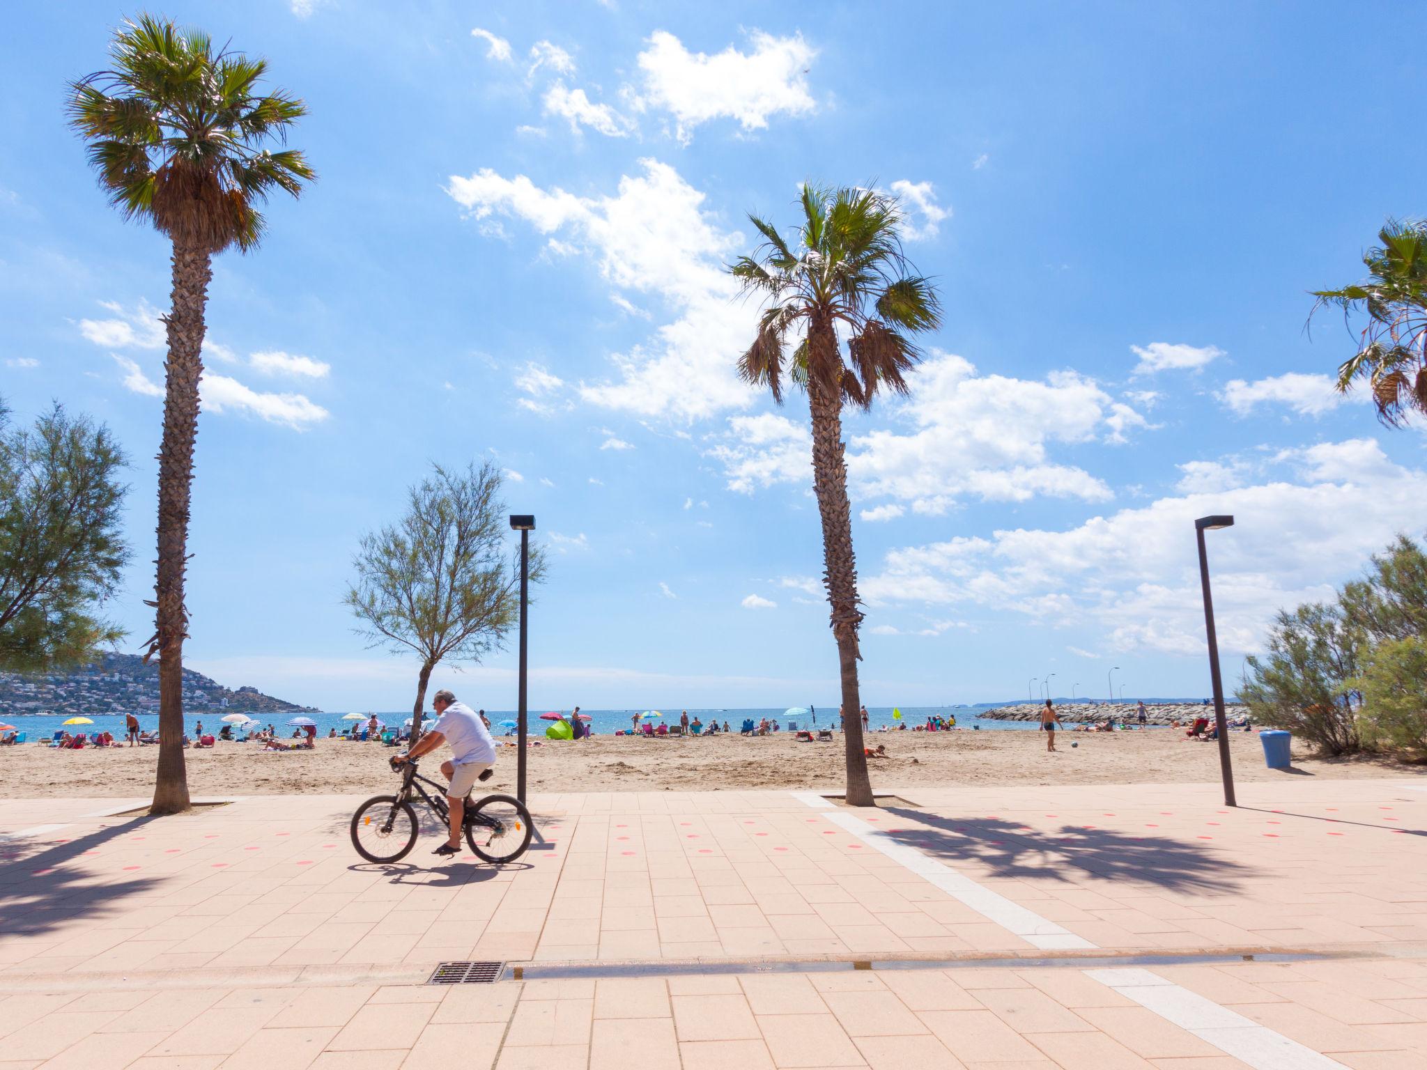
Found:
[[1411, 412], [1427, 415], [1427, 223], [1388, 220], [1381, 245], [1363, 254], [1368, 277], [1341, 290], [1314, 290], [1313, 310], [1334, 305], [1344, 318], [1367, 312], [1359, 350], [1339, 368], [1346, 394], [1367, 379], [1377, 415], [1401, 427]]

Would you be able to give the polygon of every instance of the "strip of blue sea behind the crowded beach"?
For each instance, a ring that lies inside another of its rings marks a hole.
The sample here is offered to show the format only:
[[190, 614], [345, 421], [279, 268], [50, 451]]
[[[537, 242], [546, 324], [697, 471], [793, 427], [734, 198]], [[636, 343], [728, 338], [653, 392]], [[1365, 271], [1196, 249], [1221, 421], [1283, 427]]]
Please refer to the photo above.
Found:
[[[975, 730], [987, 730], [987, 732], [1033, 732], [1033, 730], [1036, 730], [1036, 728], [1039, 728], [1035, 722], [1026, 722], [1026, 720], [987, 720], [987, 719], [979, 716], [980, 713], [985, 713], [986, 710], [996, 709], [996, 708], [1005, 706], [1005, 705], [1010, 705], [1010, 703], [1006, 703], [1006, 702], [986, 702], [986, 703], [980, 703], [980, 705], [975, 705], [975, 706], [900, 706], [900, 708], [898, 708], [898, 706], [869, 706], [868, 708], [868, 716], [869, 716], [870, 726], [872, 726], [873, 730], [876, 730], [879, 728], [883, 728], [883, 726], [889, 728], [889, 729], [893, 729], [899, 723], [905, 723], [908, 726], [908, 729], [912, 729], [916, 725], [925, 725], [926, 719], [930, 718], [930, 716], [939, 716], [939, 718], [955, 716], [958, 728], [966, 728], [966, 729], [975, 729]], [[1102, 703], [1102, 708], [1109, 706], [1109, 705], [1110, 703]], [[1124, 708], [1133, 708], [1133, 705], [1134, 705], [1133, 702], [1123, 702], [1123, 703], [1116, 702], [1114, 703], [1114, 706], [1124, 706]], [[230, 712], [241, 713], [243, 710], [230, 710]], [[365, 720], [372, 713], [372, 710], [351, 710], [351, 712], [361, 713], [362, 720]], [[397, 712], [392, 712], [392, 710], [387, 710], [387, 712], [375, 710], [375, 712], [377, 712], [377, 719], [378, 720], [381, 720], [382, 723], [390, 725], [392, 728], [401, 726], [405, 720], [408, 720], [411, 718], [411, 710], [410, 709], [408, 710], [397, 710]], [[545, 733], [545, 728], [548, 726], [548, 722], [547, 720], [541, 720], [541, 715], [548, 713], [548, 712], [564, 712], [567, 716], [569, 715], [568, 709], [567, 710], [531, 709], [531, 710], [528, 710], [528, 715], [527, 715], [528, 716], [528, 720], [527, 720], [527, 726], [528, 728], [527, 728], [527, 730], [529, 732], [529, 735], [532, 735], [532, 736], [542, 736]], [[634, 713], [644, 713], [646, 710], [635, 710], [635, 709], [584, 709], [581, 712], [582, 713], [588, 713], [591, 716], [589, 726], [594, 729], [595, 735], [614, 735], [615, 732], [622, 730], [622, 729], [628, 729], [631, 726], [631, 720], [629, 719], [631, 719], [631, 716]], [[684, 708], [669, 708], [669, 709], [661, 709], [658, 712], [662, 715], [662, 718], [651, 718], [652, 723], [658, 725], [659, 720], [664, 720], [666, 723], [676, 725], [676, 723], [679, 723], [679, 715], [684, 712]], [[815, 726], [816, 728], [836, 728], [836, 722], [838, 722], [838, 712], [836, 712], [836, 709], [828, 709], [828, 710], [816, 709], [815, 712], [816, 712], [816, 723], [813, 722], [812, 713], [789, 712], [786, 709], [733, 709], [733, 708], [729, 708], [729, 709], [692, 709], [692, 708], [689, 708], [689, 710], [688, 710], [691, 720], [694, 719], [695, 715], [698, 715], [699, 720], [702, 720], [704, 723], [708, 723], [714, 718], [718, 718], [719, 725], [722, 725], [726, 720], [728, 726], [731, 729], [733, 729], [735, 732], [739, 729], [739, 726], [743, 723], [745, 719], [751, 719], [756, 725], [759, 720], [762, 720], [765, 718], [768, 718], [769, 720], [778, 720], [778, 723], [785, 730], [792, 730], [793, 726], [796, 726], [798, 729], [811, 729], [811, 728], [815, 728]], [[898, 719], [898, 718], [893, 716], [893, 713], [896, 713], [896, 712], [902, 713], [900, 719]], [[318, 736], [327, 736], [328, 732], [331, 729], [334, 729], [334, 728], [338, 732], [342, 732], [344, 729], [350, 728], [352, 723], [357, 723], [354, 720], [345, 719], [347, 715], [348, 715], [347, 710], [335, 710], [335, 712], [325, 712], [325, 713], [298, 713], [298, 715], [284, 713], [284, 715], [277, 715], [277, 716], [271, 716], [271, 715], [265, 715], [264, 716], [264, 715], [255, 715], [254, 713], [253, 716], [257, 718], [258, 720], [261, 720], [264, 725], [273, 725], [274, 728], [278, 729], [280, 735], [287, 735], [287, 736], [290, 736], [293, 733], [293, 730], [294, 730], [293, 726], [291, 726], [291, 723], [290, 723], [293, 718], [311, 718], [313, 720], [317, 722], [317, 735]], [[63, 722], [67, 720], [68, 718], [73, 718], [73, 716], [87, 716], [87, 715], [70, 710], [70, 712], [63, 712], [63, 713], [34, 713], [34, 715], [17, 715], [17, 716], [10, 716], [10, 718], [0, 716], [0, 723], [14, 725], [19, 730], [27, 733], [27, 742], [34, 742], [34, 740], [40, 739], [41, 736], [53, 736], [54, 732], [61, 730]], [[158, 728], [158, 715], [157, 713], [138, 713], [137, 716], [138, 716], [138, 723], [144, 729], [157, 729]], [[488, 709], [488, 710], [485, 710], [485, 716], [489, 718], [491, 726], [494, 728], [495, 735], [515, 735], [515, 728], [514, 728], [514, 725], [515, 725], [515, 712], [514, 710], [505, 710], [505, 709], [491, 710], [491, 709]], [[430, 718], [430, 713], [428, 713], [428, 718]], [[63, 730], [74, 732], [74, 733], [78, 733], [78, 732], [104, 732], [104, 730], [108, 730], [108, 732], [111, 732], [114, 735], [116, 739], [123, 739], [123, 736], [124, 736], [124, 715], [123, 713], [96, 713], [90, 719], [94, 722], [93, 725], [67, 725], [67, 726], [63, 728]], [[215, 715], [210, 715], [210, 713], [204, 713], [201, 716], [191, 716], [190, 715], [186, 719], [186, 722], [184, 722], [184, 728], [188, 730], [190, 735], [194, 733], [198, 722], [203, 722], [204, 732], [211, 732], [213, 735], [217, 735], [218, 729], [223, 728], [221, 719], [218, 716], [215, 716]], [[509, 722], [509, 723], [507, 723], [507, 722]], [[1067, 723], [1075, 723], [1075, 722], [1067, 722]]]

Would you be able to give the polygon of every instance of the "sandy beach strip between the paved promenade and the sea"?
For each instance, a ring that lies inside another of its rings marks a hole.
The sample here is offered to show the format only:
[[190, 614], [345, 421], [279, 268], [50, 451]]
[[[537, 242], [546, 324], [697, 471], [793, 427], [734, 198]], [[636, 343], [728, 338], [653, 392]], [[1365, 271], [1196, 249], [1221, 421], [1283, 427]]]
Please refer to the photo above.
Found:
[[[1296, 772], [1264, 768], [1257, 733], [1230, 736], [1239, 780], [1289, 776], [1344, 779], [1427, 776], [1423, 766], [1390, 759], [1316, 759], [1294, 746]], [[872, 733], [889, 758], [873, 760], [872, 783], [912, 788], [952, 785], [1203, 783], [1219, 779], [1214, 743], [1187, 740], [1174, 729], [1114, 733], [1057, 733], [1059, 753], [1030, 730]], [[1079, 746], [1072, 746], [1077, 743]], [[390, 790], [394, 750], [372, 743], [321, 739], [311, 752], [273, 753], [250, 743], [220, 743], [188, 752], [195, 796], [358, 793]], [[153, 788], [158, 748], [59, 750], [0, 748], [0, 788], [7, 798], [136, 796]], [[435, 773], [438, 762], [428, 762]], [[628, 739], [595, 736], [581, 743], [545, 743], [529, 750], [534, 792], [718, 790], [746, 788], [825, 789], [842, 786], [842, 739], [798, 743], [791, 736]], [[515, 783], [515, 748], [502, 746], [489, 790]]]

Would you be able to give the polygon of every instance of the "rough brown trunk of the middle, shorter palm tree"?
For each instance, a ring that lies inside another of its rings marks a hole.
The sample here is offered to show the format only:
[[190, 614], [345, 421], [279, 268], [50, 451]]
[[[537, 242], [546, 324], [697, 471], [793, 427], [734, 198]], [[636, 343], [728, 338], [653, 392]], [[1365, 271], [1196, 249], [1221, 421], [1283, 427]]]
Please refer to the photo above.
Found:
[[[836, 345], [836, 340], [831, 340]], [[862, 700], [858, 691], [858, 562], [852, 552], [852, 506], [848, 502], [848, 462], [842, 444], [842, 397], [811, 375], [808, 408], [812, 412], [812, 486], [822, 516], [823, 585], [832, 606], [832, 635], [838, 641], [842, 675], [842, 740], [848, 758], [849, 806], [873, 806], [868, 756], [862, 743]]]

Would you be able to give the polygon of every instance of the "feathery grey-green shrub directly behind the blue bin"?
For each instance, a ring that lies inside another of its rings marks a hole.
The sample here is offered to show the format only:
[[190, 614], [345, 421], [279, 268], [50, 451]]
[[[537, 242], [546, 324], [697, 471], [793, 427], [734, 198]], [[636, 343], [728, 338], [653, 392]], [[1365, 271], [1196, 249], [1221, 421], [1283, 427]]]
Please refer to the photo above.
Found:
[[1239, 698], [1259, 723], [1289, 729], [1330, 755], [1357, 750], [1357, 643], [1337, 605], [1280, 611], [1269, 649], [1247, 659]]

